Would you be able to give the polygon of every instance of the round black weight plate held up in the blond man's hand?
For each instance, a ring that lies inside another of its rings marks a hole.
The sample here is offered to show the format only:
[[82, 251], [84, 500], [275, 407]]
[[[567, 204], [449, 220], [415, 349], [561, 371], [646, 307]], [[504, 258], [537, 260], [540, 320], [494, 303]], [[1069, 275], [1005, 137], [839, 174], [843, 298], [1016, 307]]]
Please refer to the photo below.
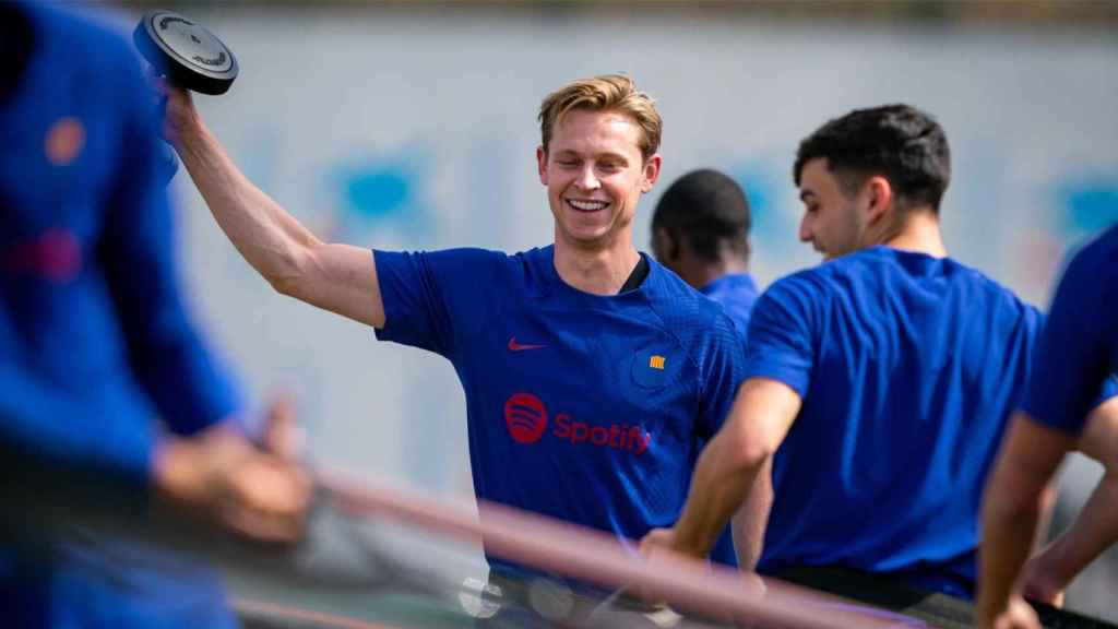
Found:
[[145, 13], [132, 39], [148, 63], [180, 87], [225, 94], [237, 78], [233, 51], [212, 32], [178, 13]]

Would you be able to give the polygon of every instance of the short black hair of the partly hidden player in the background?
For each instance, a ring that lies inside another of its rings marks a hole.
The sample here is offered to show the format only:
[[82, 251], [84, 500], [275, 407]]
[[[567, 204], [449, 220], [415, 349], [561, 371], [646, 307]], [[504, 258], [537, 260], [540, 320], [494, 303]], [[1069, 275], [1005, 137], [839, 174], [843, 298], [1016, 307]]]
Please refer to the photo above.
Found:
[[686, 240], [695, 255], [719, 259], [721, 243], [749, 255], [749, 199], [737, 181], [711, 169], [693, 170], [672, 184], [656, 204], [652, 228]]

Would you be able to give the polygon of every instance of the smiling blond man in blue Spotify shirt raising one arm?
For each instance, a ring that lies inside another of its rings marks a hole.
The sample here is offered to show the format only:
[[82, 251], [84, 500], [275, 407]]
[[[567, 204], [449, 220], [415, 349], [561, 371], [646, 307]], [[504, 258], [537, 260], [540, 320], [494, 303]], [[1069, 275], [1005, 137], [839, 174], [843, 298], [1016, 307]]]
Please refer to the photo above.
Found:
[[[555, 243], [512, 255], [323, 243], [241, 176], [184, 93], [162, 88], [169, 139], [277, 291], [454, 364], [480, 498], [629, 538], [675, 520], [743, 351], [717, 304], [633, 246], [661, 119], [631, 78], [543, 101], [536, 157]], [[733, 563], [724, 534], [716, 557]]]

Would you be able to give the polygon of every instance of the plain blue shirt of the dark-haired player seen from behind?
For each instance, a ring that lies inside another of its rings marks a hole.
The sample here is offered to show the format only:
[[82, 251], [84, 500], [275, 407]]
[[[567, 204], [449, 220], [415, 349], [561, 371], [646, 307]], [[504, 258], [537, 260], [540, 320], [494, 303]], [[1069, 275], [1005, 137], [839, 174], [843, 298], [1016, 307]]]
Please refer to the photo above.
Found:
[[760, 570], [844, 565], [973, 595], [983, 482], [1042, 323], [973, 269], [880, 246], [769, 288], [746, 374], [803, 407]]

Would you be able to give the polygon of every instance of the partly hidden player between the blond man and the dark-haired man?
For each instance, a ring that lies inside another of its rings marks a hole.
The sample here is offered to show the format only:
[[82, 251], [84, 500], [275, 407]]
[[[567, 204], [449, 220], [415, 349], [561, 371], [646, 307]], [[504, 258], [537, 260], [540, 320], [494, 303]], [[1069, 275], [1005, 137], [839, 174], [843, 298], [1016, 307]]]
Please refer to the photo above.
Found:
[[680, 177], [652, 215], [652, 253], [692, 288], [722, 304], [741, 337], [757, 301], [749, 274], [749, 200], [710, 169]]

